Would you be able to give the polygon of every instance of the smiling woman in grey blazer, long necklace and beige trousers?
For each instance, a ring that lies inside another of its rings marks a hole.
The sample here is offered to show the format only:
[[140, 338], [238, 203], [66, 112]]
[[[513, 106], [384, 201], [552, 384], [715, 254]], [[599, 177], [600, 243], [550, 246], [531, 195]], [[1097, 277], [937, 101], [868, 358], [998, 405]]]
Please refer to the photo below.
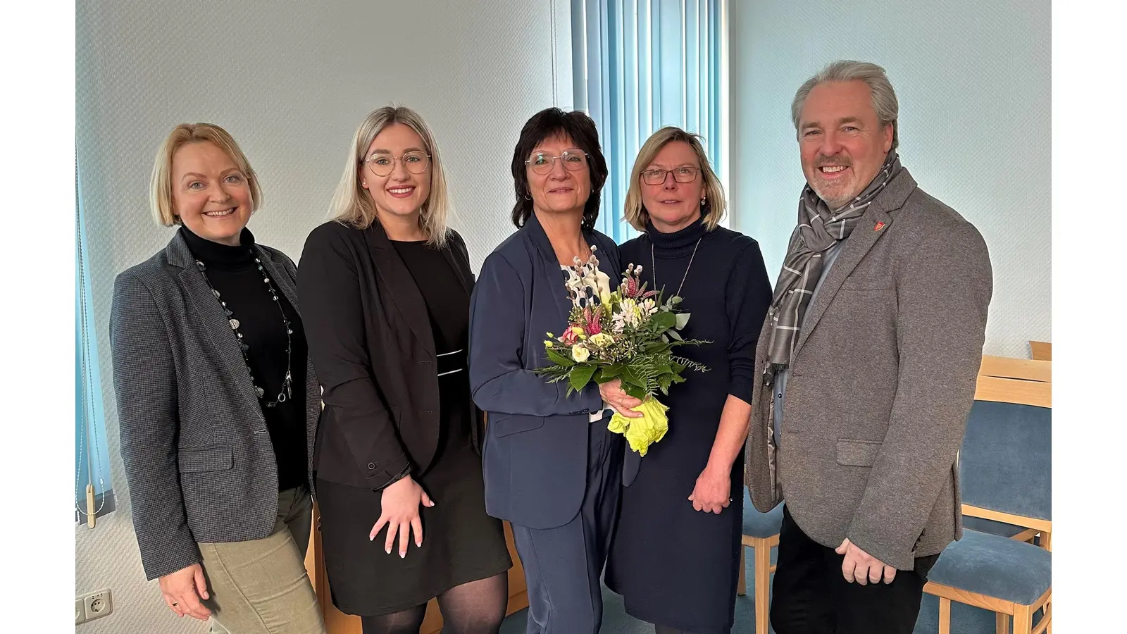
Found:
[[114, 284], [122, 458], [145, 576], [177, 616], [323, 633], [304, 565], [320, 388], [296, 267], [247, 229], [261, 200], [222, 127], [161, 143], [151, 211], [179, 229]]

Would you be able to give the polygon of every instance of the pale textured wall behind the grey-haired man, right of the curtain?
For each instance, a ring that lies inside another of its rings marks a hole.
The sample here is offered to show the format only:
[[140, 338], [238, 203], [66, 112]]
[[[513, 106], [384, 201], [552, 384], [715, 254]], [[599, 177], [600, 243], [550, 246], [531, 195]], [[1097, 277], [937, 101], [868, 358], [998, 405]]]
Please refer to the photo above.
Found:
[[734, 222], [763, 245], [772, 275], [805, 184], [795, 90], [829, 61], [871, 61], [899, 98], [904, 166], [990, 247], [985, 352], [1028, 356], [1027, 341], [1051, 341], [1048, 0], [730, 7]]

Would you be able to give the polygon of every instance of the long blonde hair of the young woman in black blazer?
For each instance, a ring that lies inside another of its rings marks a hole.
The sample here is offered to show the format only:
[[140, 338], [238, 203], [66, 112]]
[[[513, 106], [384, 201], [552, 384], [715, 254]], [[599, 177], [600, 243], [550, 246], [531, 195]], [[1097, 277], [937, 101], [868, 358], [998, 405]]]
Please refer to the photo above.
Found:
[[345, 173], [332, 194], [329, 217], [357, 229], [367, 229], [378, 220], [375, 205], [361, 186], [360, 170], [372, 141], [394, 123], [402, 123], [414, 130], [423, 139], [426, 152], [431, 155], [431, 193], [419, 210], [419, 226], [427, 244], [441, 247], [446, 244], [446, 215], [450, 211], [446, 176], [442, 170], [438, 146], [434, 142], [431, 129], [418, 113], [406, 106], [383, 106], [372, 111], [356, 129], [348, 160], [345, 162]]

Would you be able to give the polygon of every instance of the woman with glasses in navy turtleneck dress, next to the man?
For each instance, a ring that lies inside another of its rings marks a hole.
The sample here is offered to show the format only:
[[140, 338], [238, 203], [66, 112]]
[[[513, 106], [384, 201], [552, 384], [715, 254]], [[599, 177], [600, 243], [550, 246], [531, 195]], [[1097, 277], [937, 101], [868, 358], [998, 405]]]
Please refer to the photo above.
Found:
[[709, 370], [669, 388], [669, 431], [645, 458], [627, 451], [623, 468], [606, 584], [659, 634], [733, 625], [744, 440], [771, 282], [758, 244], [719, 226], [725, 206], [700, 137], [663, 127], [646, 141], [625, 202], [644, 234], [620, 247], [622, 262], [642, 265], [642, 281], [664, 298], [682, 298], [685, 338], [711, 342], [678, 349]]

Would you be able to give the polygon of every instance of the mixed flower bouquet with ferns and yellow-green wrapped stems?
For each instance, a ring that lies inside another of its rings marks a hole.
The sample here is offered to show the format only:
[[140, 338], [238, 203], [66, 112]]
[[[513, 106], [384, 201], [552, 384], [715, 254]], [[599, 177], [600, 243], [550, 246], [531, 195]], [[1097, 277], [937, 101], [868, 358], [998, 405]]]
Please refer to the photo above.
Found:
[[669, 386], [684, 382], [681, 373], [686, 369], [708, 370], [675, 356], [673, 349], [709, 342], [678, 334], [689, 323], [687, 312], [676, 311], [681, 298], [663, 302], [660, 291], [647, 290], [639, 279], [641, 266], [627, 266], [622, 283], [611, 291], [610, 278], [598, 270], [595, 247], [591, 250], [587, 262], [576, 257], [567, 270], [568, 325], [560, 336], [548, 333], [544, 351], [551, 366], [536, 372], [549, 377], [549, 382], [568, 381], [568, 396], [591, 381], [601, 385], [620, 379], [622, 389], [642, 402], [633, 408], [642, 416], [628, 419], [615, 412], [609, 429], [625, 435], [630, 448], [645, 456], [669, 428], [668, 407], [657, 400], [657, 391], [668, 395]]

